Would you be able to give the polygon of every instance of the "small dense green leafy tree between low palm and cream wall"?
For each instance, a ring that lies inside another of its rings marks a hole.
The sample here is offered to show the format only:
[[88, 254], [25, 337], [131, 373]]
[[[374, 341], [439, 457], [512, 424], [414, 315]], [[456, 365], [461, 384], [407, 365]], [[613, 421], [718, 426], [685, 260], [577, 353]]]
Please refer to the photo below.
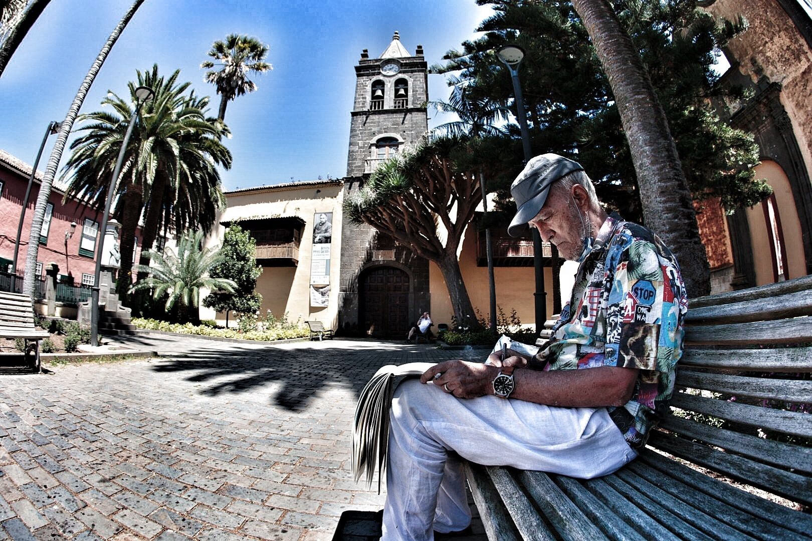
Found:
[[253, 313], [262, 304], [262, 295], [254, 291], [262, 273], [257, 265], [256, 248], [257, 241], [249, 231], [237, 224], [227, 228], [220, 248], [222, 261], [214, 265], [209, 276], [234, 281], [234, 291], [214, 291], [203, 299], [203, 306], [226, 312], [226, 324], [229, 311]]

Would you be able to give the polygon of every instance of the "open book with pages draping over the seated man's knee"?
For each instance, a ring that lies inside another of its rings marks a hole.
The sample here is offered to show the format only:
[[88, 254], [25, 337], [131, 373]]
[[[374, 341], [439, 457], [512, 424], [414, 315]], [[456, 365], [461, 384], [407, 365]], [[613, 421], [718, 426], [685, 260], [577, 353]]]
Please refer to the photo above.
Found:
[[[492, 352], [502, 350], [503, 347], [528, 355], [534, 355], [538, 351], [538, 347], [512, 341], [503, 335], [496, 342]], [[378, 493], [381, 492], [381, 479], [387, 469], [392, 395], [404, 378], [420, 376], [433, 366], [434, 363], [387, 365], [375, 372], [361, 391], [352, 425], [352, 475], [356, 482], [364, 476], [367, 486], [371, 487], [377, 466]]]

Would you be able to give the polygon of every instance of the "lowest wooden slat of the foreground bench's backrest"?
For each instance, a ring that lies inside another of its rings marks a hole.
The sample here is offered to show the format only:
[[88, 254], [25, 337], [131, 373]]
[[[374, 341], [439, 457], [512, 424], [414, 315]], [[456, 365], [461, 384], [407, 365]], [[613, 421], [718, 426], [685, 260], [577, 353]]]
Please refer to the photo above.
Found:
[[663, 432], [654, 432], [650, 436], [651, 444], [667, 453], [685, 458], [689, 462], [719, 471], [733, 479], [738, 479], [784, 496], [793, 501], [812, 503], [812, 479], [773, 466], [754, 462], [749, 458], [713, 449], [706, 445], [693, 443], [686, 438], [667, 436]]

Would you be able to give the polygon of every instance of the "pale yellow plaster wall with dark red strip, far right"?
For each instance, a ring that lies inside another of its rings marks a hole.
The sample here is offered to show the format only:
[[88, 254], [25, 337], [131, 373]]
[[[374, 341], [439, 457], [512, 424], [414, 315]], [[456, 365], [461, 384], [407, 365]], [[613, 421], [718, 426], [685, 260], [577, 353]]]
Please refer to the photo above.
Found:
[[[787, 251], [787, 273], [790, 278], [797, 278], [806, 274], [804, 260], [804, 246], [801, 239], [801, 221], [795, 209], [792, 188], [789, 186], [787, 174], [775, 161], [762, 161], [755, 168], [756, 178], [766, 178], [775, 193], [775, 203], [781, 219], [781, 229], [784, 232], [784, 247]], [[771, 284], [772, 255], [770, 252], [770, 239], [767, 237], [767, 221], [761, 204], [747, 209], [747, 223], [750, 228], [750, 240], [753, 246], [753, 259], [755, 261], [756, 285]]]

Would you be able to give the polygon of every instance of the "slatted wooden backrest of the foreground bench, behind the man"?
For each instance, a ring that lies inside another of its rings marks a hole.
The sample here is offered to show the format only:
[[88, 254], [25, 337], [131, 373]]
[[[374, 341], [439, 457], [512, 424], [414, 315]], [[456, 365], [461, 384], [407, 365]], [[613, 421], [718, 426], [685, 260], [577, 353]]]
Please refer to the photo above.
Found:
[[812, 505], [810, 376], [812, 276], [693, 299], [674, 414], [649, 444]]

